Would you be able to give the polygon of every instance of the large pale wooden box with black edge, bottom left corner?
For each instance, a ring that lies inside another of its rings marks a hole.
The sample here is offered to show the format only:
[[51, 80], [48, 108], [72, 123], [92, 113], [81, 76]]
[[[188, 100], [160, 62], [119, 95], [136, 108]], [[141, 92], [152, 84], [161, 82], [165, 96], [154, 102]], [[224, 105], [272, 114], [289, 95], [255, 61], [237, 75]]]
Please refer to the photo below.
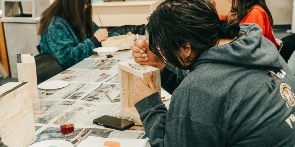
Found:
[[29, 83], [0, 86], [0, 138], [7, 146], [27, 147], [36, 139]]

